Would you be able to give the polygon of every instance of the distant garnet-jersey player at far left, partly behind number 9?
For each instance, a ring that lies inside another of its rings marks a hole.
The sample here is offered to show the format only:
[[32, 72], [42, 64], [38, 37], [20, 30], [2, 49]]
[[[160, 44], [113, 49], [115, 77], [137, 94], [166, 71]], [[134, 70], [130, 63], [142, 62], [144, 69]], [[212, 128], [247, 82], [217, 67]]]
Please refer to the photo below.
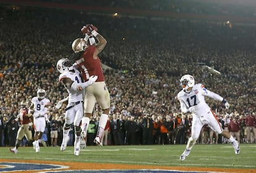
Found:
[[29, 130], [29, 127], [32, 126], [33, 116], [28, 113], [28, 102], [22, 101], [20, 103], [20, 113], [12, 120], [12, 123], [20, 121], [20, 128], [17, 132], [16, 142], [14, 148], [9, 148], [12, 153], [17, 153], [20, 143], [25, 136], [28, 142], [32, 142], [32, 132]]

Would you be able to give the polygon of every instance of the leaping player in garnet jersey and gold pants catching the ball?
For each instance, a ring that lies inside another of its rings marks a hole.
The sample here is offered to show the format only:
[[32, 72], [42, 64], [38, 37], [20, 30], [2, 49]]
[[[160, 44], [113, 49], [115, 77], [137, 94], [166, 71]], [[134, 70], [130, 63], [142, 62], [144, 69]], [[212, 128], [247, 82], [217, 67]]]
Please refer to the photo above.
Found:
[[[110, 97], [98, 54], [100, 54], [100, 52], [105, 48], [106, 39], [97, 32], [98, 29], [95, 26], [90, 24], [83, 26], [81, 31], [85, 34], [85, 38], [77, 38], [72, 43], [72, 50], [75, 52], [75, 58], [73, 59], [75, 60], [77, 69], [82, 73], [82, 78], [85, 81], [88, 81], [90, 76], [98, 76], [96, 82], [85, 89], [85, 117], [82, 119], [81, 128], [82, 131], [84, 131], [85, 124], [90, 123], [93, 108], [95, 107], [95, 103], [98, 102], [102, 109], [102, 113], [99, 119], [98, 132], [94, 142], [101, 147], [101, 139], [106, 122], [108, 121]], [[95, 38], [97, 41], [95, 41]]]

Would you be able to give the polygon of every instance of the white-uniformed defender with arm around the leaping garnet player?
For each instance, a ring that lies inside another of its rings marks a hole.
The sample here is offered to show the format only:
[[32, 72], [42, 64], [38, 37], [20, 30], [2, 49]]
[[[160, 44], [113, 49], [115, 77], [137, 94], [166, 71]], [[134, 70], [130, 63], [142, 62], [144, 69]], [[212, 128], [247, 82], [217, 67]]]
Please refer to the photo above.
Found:
[[[61, 73], [59, 75], [59, 82], [67, 89], [69, 93], [65, 123], [63, 128], [63, 139], [61, 144], [61, 151], [66, 150], [67, 142], [69, 141], [70, 126], [74, 123], [75, 126], [75, 143], [74, 155], [79, 156], [81, 127], [80, 122], [83, 118], [83, 94], [85, 87], [93, 84], [98, 76], [90, 76], [87, 82], [82, 82], [81, 74], [72, 65], [72, 61], [67, 58], [61, 58], [57, 63], [57, 69]], [[88, 122], [89, 124], [90, 122]], [[87, 128], [88, 128], [87, 124]], [[87, 131], [87, 129], [86, 129]]]

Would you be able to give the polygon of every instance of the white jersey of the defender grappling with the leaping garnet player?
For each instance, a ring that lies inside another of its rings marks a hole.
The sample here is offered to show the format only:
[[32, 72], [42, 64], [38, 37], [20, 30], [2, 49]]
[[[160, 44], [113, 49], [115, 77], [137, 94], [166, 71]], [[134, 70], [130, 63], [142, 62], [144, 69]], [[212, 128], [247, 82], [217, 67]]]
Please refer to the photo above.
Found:
[[[72, 81], [76, 82], [77, 84], [82, 83], [81, 74], [78, 70], [75, 69], [75, 72], [72, 71], [65, 71], [59, 75], [59, 81], [61, 82], [64, 78], [69, 78]], [[66, 88], [67, 89], [67, 88]], [[74, 91], [73, 89], [67, 89], [69, 93], [69, 102], [78, 102], [83, 100], [83, 93], [84, 90], [81, 89], [80, 91]]]

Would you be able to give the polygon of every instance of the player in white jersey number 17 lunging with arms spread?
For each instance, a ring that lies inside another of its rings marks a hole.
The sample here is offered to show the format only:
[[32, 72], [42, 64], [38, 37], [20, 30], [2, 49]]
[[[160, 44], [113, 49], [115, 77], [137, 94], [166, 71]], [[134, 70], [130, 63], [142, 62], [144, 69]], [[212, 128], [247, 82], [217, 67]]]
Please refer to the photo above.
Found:
[[193, 115], [191, 137], [187, 142], [186, 150], [182, 153], [180, 160], [184, 161], [186, 156], [189, 155], [205, 124], [208, 124], [213, 131], [226, 137], [233, 144], [234, 151], [238, 155], [240, 151], [239, 143], [234, 140], [228, 131], [223, 131], [215, 113], [213, 113], [205, 102], [205, 96], [222, 102], [226, 109], [229, 108], [229, 103], [220, 95], [206, 89], [203, 84], [195, 84], [195, 79], [190, 74], [182, 76], [180, 82], [182, 91], [177, 94], [177, 99], [181, 103], [181, 111], [182, 113], [192, 113]]

